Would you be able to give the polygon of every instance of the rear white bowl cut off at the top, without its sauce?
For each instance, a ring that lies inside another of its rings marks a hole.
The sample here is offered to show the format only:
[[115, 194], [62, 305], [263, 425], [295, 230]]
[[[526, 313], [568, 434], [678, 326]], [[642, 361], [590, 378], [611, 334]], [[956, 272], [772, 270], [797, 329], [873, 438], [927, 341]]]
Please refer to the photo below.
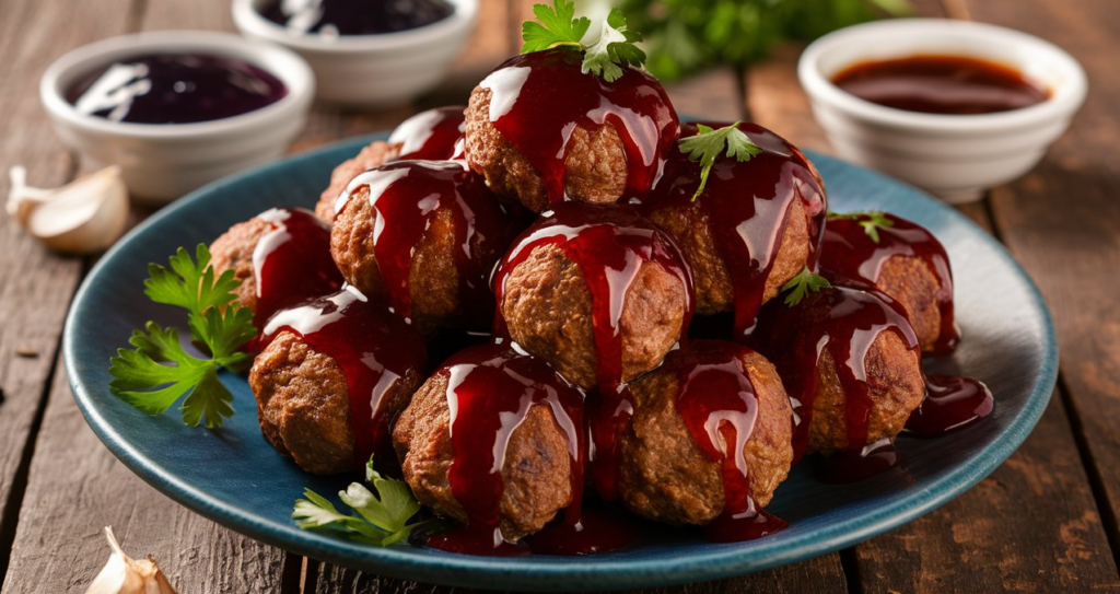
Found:
[[318, 98], [328, 103], [384, 109], [402, 105], [444, 78], [467, 43], [478, 17], [478, 0], [448, 0], [445, 19], [403, 31], [324, 37], [296, 35], [264, 18], [268, 0], [233, 0], [233, 21], [242, 35], [284, 46], [311, 65]]

